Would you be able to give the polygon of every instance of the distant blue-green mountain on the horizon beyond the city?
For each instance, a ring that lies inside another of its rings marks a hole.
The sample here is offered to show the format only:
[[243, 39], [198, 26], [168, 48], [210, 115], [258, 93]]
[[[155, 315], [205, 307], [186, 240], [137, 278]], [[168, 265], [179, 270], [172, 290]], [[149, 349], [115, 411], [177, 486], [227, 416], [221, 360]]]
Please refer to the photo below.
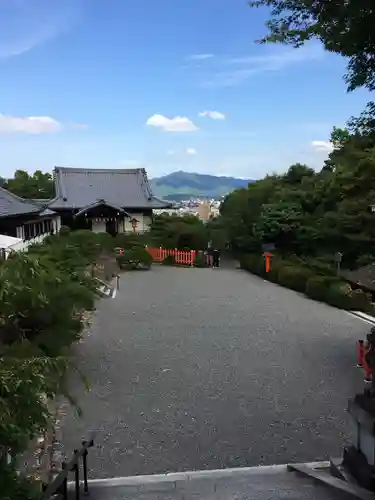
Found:
[[234, 189], [247, 187], [252, 180], [180, 171], [156, 177], [150, 182], [159, 198], [180, 201], [191, 197], [220, 198]]

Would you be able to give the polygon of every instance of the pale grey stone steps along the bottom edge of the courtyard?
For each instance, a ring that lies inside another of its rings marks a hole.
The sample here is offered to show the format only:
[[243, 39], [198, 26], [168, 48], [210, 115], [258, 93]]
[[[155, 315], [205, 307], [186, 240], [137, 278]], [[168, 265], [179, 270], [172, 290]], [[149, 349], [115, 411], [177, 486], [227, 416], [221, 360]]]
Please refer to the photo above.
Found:
[[[304, 467], [311, 470], [312, 474], [301, 473], [292, 466], [273, 465], [94, 479], [88, 482], [89, 495], [91, 500], [353, 500], [354, 498], [370, 500], [375, 498], [373, 494], [360, 488], [351, 490], [350, 487], [346, 489], [340, 487], [342, 486], [340, 481], [328, 473], [329, 462], [300, 466], [302, 471]], [[323, 475], [323, 479], [314, 477], [316, 471], [320, 476]], [[73, 490], [70, 492], [73, 495]], [[73, 499], [74, 496], [69, 498]]]

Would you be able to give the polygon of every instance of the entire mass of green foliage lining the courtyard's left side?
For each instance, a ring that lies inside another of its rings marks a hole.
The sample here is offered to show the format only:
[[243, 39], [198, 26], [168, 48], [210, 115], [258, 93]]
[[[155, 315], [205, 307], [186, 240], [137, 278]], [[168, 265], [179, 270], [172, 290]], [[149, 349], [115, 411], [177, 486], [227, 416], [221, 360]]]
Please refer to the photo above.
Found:
[[[0, 266], [0, 485], [5, 498], [34, 498], [16, 458], [50, 422], [49, 402], [67, 391], [69, 347], [94, 307], [90, 265], [109, 242], [91, 232], [48, 237]], [[113, 241], [114, 245], [115, 242]], [[4, 466], [3, 466], [4, 465]]]

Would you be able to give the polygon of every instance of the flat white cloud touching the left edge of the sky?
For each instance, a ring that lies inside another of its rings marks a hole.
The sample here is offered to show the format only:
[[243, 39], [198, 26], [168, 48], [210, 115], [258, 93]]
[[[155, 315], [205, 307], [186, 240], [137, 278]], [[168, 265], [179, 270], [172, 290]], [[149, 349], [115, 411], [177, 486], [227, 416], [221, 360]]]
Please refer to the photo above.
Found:
[[44, 134], [58, 132], [62, 125], [49, 116], [7, 116], [0, 114], [0, 134]]

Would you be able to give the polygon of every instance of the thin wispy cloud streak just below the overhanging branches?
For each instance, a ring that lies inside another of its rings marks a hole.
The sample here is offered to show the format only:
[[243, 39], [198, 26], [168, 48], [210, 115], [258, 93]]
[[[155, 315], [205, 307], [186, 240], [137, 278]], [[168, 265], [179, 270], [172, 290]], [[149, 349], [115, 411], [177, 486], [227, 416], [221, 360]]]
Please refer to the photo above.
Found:
[[318, 44], [311, 43], [301, 48], [263, 47], [260, 55], [236, 57], [223, 61], [226, 69], [221, 69], [208, 81], [206, 87], [230, 87], [248, 81], [257, 74], [278, 72], [293, 65], [311, 62], [324, 57], [324, 50]]

